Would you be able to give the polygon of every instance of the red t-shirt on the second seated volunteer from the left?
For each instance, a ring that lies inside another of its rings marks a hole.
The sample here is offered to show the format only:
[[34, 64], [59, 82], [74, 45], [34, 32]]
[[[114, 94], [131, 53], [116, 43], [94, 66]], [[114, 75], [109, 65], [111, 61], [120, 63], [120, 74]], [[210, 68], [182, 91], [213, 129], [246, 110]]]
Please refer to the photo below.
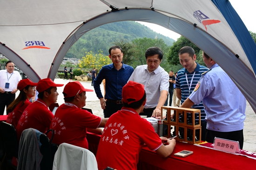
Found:
[[28, 128], [34, 128], [42, 133], [49, 129], [54, 114], [48, 109], [46, 103], [41, 99], [31, 103], [22, 113], [18, 126], [17, 136], [20, 140], [21, 133]]

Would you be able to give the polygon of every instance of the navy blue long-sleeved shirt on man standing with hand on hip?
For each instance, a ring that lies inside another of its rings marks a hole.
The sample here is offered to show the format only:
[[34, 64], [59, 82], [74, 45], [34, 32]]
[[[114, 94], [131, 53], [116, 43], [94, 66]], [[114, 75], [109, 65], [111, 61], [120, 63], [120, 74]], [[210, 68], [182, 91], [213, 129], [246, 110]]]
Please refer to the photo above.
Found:
[[103, 97], [101, 94], [100, 84], [103, 79], [106, 80], [106, 95], [105, 99], [121, 101], [122, 88], [128, 82], [134, 69], [122, 62], [122, 68], [117, 70], [113, 63], [105, 65], [100, 70], [99, 74], [94, 79], [94, 90], [97, 97]]

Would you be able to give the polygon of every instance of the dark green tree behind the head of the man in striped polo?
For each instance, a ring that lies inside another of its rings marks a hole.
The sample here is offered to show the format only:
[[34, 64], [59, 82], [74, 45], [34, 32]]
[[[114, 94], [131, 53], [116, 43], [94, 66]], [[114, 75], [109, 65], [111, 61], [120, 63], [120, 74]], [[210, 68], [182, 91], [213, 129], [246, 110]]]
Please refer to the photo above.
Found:
[[[171, 48], [168, 52], [167, 60], [170, 64], [178, 65], [180, 63], [178, 53], [179, 53], [179, 50], [184, 46], [192, 47], [195, 50], [195, 55], [197, 57], [200, 56], [200, 54], [199, 54], [200, 49], [195, 44], [193, 44], [191, 41], [189, 41], [187, 38], [181, 36], [180, 38], [177, 39], [177, 41], [173, 44], [173, 46], [171, 46]], [[196, 62], [197, 62], [197, 60], [196, 60]]]

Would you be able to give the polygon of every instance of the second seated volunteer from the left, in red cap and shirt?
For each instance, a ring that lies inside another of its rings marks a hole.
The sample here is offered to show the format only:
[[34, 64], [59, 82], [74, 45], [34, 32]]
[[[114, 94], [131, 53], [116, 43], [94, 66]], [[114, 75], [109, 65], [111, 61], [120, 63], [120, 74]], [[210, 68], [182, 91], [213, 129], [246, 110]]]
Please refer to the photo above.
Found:
[[55, 84], [50, 78], [41, 79], [37, 83], [38, 99], [30, 104], [22, 113], [18, 126], [17, 135], [20, 139], [23, 130], [34, 128], [42, 133], [49, 129], [54, 114], [48, 109], [50, 104], [57, 101], [57, 87], [64, 84]]

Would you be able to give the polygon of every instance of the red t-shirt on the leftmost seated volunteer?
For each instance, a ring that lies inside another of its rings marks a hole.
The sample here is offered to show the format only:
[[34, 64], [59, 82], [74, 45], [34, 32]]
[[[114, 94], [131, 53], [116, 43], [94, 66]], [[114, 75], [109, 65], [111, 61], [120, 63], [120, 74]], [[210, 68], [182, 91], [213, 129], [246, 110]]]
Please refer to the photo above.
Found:
[[31, 102], [29, 102], [28, 99], [24, 102], [23, 106], [21, 106], [22, 102], [23, 101], [20, 101], [20, 103], [13, 109], [13, 111], [11, 113], [8, 113], [8, 117], [6, 120], [6, 122], [12, 124], [15, 127], [15, 129], [17, 128], [21, 114], [27, 108], [27, 106], [31, 104]]

